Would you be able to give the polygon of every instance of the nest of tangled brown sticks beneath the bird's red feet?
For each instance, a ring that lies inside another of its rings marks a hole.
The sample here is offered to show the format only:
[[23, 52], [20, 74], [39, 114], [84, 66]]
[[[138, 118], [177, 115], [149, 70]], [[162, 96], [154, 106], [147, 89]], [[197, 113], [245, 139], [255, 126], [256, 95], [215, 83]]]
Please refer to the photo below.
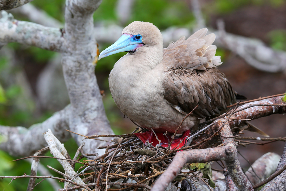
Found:
[[[136, 128], [136, 132], [139, 128]], [[144, 132], [142, 129], [139, 132]], [[82, 154], [78, 161], [82, 158], [86, 165], [84, 172], [79, 173], [82, 180], [86, 183], [85, 186], [92, 186], [95, 190], [108, 191], [128, 191], [128, 190], [151, 190], [156, 178], [168, 168], [172, 162], [172, 158], [179, 150], [185, 150], [187, 147], [171, 150], [157, 145], [152, 146], [147, 141], [143, 144], [132, 132], [132, 134], [125, 135], [100, 135], [97, 137], [112, 137], [114, 142], [109, 146], [101, 146], [99, 149], [105, 149], [105, 154], [96, 158], [91, 157], [94, 154]], [[121, 138], [120, 138], [121, 137]], [[171, 140], [170, 140], [171, 141]], [[219, 143], [218, 143], [219, 144]], [[85, 168], [82, 166], [81, 168]], [[94, 172], [88, 172], [88, 171]], [[78, 170], [78, 172], [80, 169]], [[183, 172], [184, 171], [184, 172]], [[195, 184], [199, 178], [208, 185], [208, 180], [198, 176], [198, 170], [191, 170], [189, 165], [173, 181], [172, 187], [180, 187], [183, 180], [189, 184]], [[106, 186], [107, 185], [107, 186]], [[209, 186], [209, 185], [208, 185]], [[97, 187], [97, 189], [96, 189]], [[67, 190], [73, 190], [76, 187], [70, 187]], [[66, 189], [63, 189], [66, 190]]]

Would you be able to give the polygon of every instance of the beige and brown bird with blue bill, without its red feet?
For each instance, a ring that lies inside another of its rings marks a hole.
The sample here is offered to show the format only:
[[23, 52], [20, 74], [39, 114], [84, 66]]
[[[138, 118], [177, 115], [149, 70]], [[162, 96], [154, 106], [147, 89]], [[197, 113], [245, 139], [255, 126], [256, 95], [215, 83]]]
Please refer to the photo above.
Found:
[[198, 128], [201, 119], [219, 115], [239, 96], [217, 69], [221, 57], [212, 45], [215, 34], [200, 29], [163, 48], [160, 30], [149, 22], [134, 21], [98, 57], [127, 52], [115, 64], [108, 81], [115, 104], [142, 128], [174, 133]]

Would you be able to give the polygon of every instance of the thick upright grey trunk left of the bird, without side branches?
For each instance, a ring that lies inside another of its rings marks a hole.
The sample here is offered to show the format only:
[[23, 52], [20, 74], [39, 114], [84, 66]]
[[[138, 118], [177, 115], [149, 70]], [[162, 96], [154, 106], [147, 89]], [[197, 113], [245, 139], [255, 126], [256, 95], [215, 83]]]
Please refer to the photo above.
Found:
[[[71, 103], [69, 130], [78, 134], [100, 135], [113, 134], [106, 118], [102, 95], [94, 74], [97, 62], [97, 43], [94, 34], [93, 12], [100, 5], [100, 0], [67, 0], [65, 6], [65, 33], [68, 51], [62, 54], [63, 74]], [[72, 134], [77, 144], [82, 144], [82, 137]], [[106, 145], [97, 140], [85, 140], [87, 153]]]

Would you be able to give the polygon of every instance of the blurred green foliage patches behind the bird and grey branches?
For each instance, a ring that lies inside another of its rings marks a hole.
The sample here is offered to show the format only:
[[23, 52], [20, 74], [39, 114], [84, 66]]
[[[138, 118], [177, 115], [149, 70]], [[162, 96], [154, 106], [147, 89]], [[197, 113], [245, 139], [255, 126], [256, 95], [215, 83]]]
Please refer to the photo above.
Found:
[[[195, 20], [192, 12], [190, 11], [187, 1], [183, 0], [136, 0], [132, 14], [128, 23], [132, 21], [148, 21], [154, 23], [160, 30], [164, 30], [170, 26], [178, 27], [194, 27]], [[43, 9], [52, 17], [64, 22], [64, 0], [51, 0], [51, 1], [39, 1], [35, 0], [31, 2], [39, 9]], [[203, 7], [203, 13], [206, 20], [211, 14], [227, 14], [231, 11], [235, 11], [241, 7], [249, 5], [271, 5], [279, 6], [284, 3], [283, 0], [240, 0], [240, 1], [229, 1], [229, 0], [215, 0], [210, 1]], [[103, 0], [98, 10], [94, 13], [94, 21], [105, 23], [116, 23], [118, 24], [118, 18], [115, 13], [117, 0]], [[17, 18], [17, 17], [15, 17]], [[20, 17], [19, 20], [25, 20], [27, 18]], [[126, 23], [126, 24], [128, 24]], [[124, 27], [124, 26], [123, 26]], [[270, 34], [271, 46], [275, 49], [286, 50], [286, 33], [285, 31], [273, 31]], [[105, 49], [110, 44], [100, 45], [100, 50]], [[54, 52], [42, 50], [37, 47], [26, 47], [17, 43], [10, 43], [8, 47], [13, 48], [17, 54], [25, 55], [29, 61], [35, 62], [39, 65], [45, 65], [53, 56]], [[125, 53], [118, 53], [111, 55], [100, 60], [96, 67], [96, 75], [98, 77], [98, 83], [100, 88], [105, 90], [104, 106], [110, 124], [116, 134], [121, 134], [119, 119], [122, 116], [119, 114], [118, 108], [114, 104], [108, 88], [108, 74], [113, 68], [114, 63], [122, 57]], [[225, 59], [227, 53], [223, 49], [217, 49], [217, 55], [221, 55], [222, 61]], [[9, 66], [10, 60], [5, 55], [0, 57], [0, 72], [6, 71]], [[10, 75], [14, 75], [13, 71], [19, 68], [15, 67]], [[23, 97], [23, 87], [19, 84], [4, 84], [0, 81], [0, 125], [7, 126], [25, 126], [29, 127], [34, 123], [42, 122], [52, 115], [54, 111], [45, 111], [41, 116], [35, 115], [35, 104], [32, 100], [21, 99]], [[19, 107], [23, 105], [23, 107]], [[24, 108], [24, 109], [23, 109]], [[69, 140], [65, 143], [65, 147], [69, 152], [70, 156], [74, 156], [77, 145], [74, 140]], [[51, 156], [47, 153], [46, 156]], [[0, 151], [0, 175], [5, 176], [18, 176], [23, 173], [30, 174], [31, 164], [25, 160], [10, 163], [9, 161], [16, 159], [16, 157], [10, 157], [7, 153]], [[40, 162], [46, 166], [52, 166], [58, 170], [62, 170], [61, 165], [54, 159], [43, 158]], [[76, 164], [76, 168], [79, 168], [79, 164]], [[49, 170], [49, 169], [48, 169]], [[55, 172], [49, 170], [54, 176], [59, 176]], [[27, 178], [16, 179], [8, 186], [10, 180], [2, 179], [0, 181], [0, 189], [5, 190], [17, 190], [22, 191], [27, 189], [28, 184]], [[37, 180], [39, 182], [41, 180]], [[61, 185], [63, 185], [61, 183]], [[43, 181], [37, 185], [35, 191], [40, 190], [53, 190], [48, 181]]]

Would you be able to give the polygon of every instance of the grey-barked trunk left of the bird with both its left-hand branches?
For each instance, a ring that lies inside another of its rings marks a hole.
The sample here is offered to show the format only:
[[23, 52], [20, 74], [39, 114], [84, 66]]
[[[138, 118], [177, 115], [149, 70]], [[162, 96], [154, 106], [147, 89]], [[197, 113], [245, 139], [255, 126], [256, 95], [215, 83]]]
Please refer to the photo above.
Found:
[[[15, 156], [31, 155], [46, 146], [41, 134], [48, 128], [61, 142], [70, 137], [70, 133], [65, 129], [83, 135], [113, 133], [105, 115], [94, 74], [98, 55], [93, 13], [100, 3], [101, 1], [96, 0], [67, 0], [64, 33], [58, 28], [17, 21], [11, 13], [2, 11], [1, 45], [19, 42], [62, 53], [63, 73], [71, 104], [29, 130], [23, 127], [0, 126], [0, 133], [5, 135], [7, 140], [0, 144], [1, 149]], [[24, 133], [20, 133], [21, 131]], [[82, 136], [76, 134], [72, 136], [78, 145], [82, 144]], [[96, 153], [98, 146], [106, 144], [98, 140], [85, 140], [85, 142], [86, 153]]]

